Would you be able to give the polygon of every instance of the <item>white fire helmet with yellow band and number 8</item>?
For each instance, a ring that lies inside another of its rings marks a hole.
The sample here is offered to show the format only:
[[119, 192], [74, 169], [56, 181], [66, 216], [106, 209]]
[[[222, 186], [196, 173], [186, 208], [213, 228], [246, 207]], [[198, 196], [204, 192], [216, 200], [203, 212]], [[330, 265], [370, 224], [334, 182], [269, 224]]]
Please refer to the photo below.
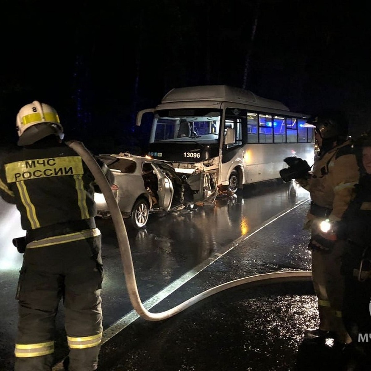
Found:
[[55, 134], [63, 139], [63, 127], [57, 111], [45, 103], [33, 101], [23, 106], [17, 115], [18, 145], [30, 145]]

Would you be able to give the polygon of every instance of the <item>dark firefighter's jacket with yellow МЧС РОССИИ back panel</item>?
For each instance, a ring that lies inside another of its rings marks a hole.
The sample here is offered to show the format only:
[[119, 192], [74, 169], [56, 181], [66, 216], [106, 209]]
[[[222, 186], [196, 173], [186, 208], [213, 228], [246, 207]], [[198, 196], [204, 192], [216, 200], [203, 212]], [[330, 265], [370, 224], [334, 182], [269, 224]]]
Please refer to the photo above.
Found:
[[[2, 162], [0, 196], [16, 204], [24, 230], [41, 232], [33, 236], [50, 236], [42, 233], [48, 229], [58, 235], [56, 225], [92, 221], [96, 216], [94, 192], [100, 190], [87, 165], [68, 145], [44, 138]], [[111, 171], [100, 165], [112, 184]]]

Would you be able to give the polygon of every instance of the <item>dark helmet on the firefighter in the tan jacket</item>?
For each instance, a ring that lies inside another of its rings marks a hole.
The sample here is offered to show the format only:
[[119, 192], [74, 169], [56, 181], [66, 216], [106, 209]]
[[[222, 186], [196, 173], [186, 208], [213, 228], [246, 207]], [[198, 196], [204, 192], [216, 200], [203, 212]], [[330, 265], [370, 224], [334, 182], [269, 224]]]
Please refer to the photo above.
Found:
[[342, 114], [318, 114], [309, 118], [307, 122], [315, 126], [316, 132], [323, 139], [348, 135], [347, 119]]

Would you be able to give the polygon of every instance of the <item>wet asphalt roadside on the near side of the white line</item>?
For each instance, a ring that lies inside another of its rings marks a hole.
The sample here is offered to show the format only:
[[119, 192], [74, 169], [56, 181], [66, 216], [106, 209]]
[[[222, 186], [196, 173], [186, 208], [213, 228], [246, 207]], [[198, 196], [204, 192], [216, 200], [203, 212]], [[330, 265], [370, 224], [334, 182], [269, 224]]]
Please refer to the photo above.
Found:
[[[307, 207], [304, 203], [226, 246], [232, 249], [151, 312], [230, 280], [310, 269], [308, 233], [301, 230]], [[287, 228], [290, 234], [283, 234]], [[316, 322], [310, 281], [237, 286], [170, 319], [133, 322], [102, 346], [99, 370], [318, 370], [298, 368], [303, 331]]]

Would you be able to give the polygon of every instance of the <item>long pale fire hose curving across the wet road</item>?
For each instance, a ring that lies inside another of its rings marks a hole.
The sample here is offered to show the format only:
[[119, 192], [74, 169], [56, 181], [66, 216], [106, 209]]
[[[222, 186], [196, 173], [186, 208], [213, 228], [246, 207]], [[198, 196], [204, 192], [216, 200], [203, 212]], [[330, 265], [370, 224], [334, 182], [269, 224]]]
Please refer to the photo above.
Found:
[[151, 313], [144, 308], [142, 301], [139, 297], [137, 281], [135, 279], [134, 266], [131, 257], [130, 244], [128, 240], [128, 235], [126, 232], [126, 227], [124, 220], [122, 219], [121, 211], [118, 207], [118, 204], [115, 200], [115, 197], [112, 193], [111, 186], [109, 185], [106, 177], [104, 176], [101, 168], [95, 161], [95, 158], [90, 154], [90, 152], [85, 148], [85, 146], [79, 141], [68, 141], [66, 144], [76, 151], [86, 165], [89, 167], [93, 176], [95, 177], [99, 188], [104, 194], [107, 206], [111, 213], [112, 221], [114, 223], [117, 240], [119, 244], [119, 250], [121, 254], [121, 262], [124, 269], [125, 282], [127, 285], [129, 298], [131, 304], [135, 311], [144, 319], [148, 321], [161, 321], [163, 319], [174, 316], [175, 314], [184, 311], [184, 309], [190, 307], [193, 304], [201, 301], [202, 299], [208, 298], [211, 295], [214, 295], [220, 291], [238, 286], [244, 285], [246, 283], [253, 283], [259, 281], [271, 282], [283, 282], [283, 281], [297, 281], [297, 280], [311, 280], [311, 272], [305, 270], [299, 271], [288, 271], [288, 272], [275, 272], [275, 273], [266, 273], [262, 275], [249, 276], [230, 282], [223, 283], [222, 285], [216, 286], [200, 294], [190, 298], [183, 303], [175, 306], [174, 308], [168, 309], [167, 311], [160, 313]]

